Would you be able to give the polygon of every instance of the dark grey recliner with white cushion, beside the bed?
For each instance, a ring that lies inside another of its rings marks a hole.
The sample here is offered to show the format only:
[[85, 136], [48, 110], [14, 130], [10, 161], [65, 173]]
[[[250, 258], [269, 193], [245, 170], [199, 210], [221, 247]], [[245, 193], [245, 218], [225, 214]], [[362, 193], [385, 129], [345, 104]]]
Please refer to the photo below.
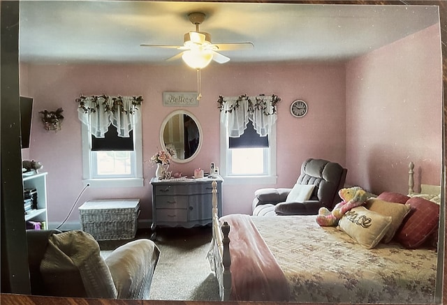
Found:
[[255, 191], [253, 215], [316, 215], [321, 207], [332, 209], [340, 201], [338, 191], [344, 186], [346, 172], [339, 163], [309, 158], [302, 163], [293, 188]]

